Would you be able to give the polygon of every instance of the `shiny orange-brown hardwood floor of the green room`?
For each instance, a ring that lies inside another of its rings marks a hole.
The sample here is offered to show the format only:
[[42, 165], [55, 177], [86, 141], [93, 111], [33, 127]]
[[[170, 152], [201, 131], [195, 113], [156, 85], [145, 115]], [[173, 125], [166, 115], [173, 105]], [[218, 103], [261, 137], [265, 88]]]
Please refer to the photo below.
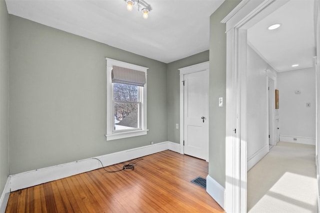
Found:
[[207, 162], [166, 150], [143, 157], [134, 170], [101, 168], [11, 192], [6, 213], [223, 213], [190, 182], [207, 173]]

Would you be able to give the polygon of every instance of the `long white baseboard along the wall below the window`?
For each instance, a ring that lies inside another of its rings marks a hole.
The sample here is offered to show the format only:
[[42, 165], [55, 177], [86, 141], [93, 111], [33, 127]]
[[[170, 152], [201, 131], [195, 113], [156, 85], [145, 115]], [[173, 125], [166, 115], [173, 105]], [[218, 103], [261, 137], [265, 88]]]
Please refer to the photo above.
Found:
[[[167, 150], [169, 147], [171, 149], [176, 149], [174, 145], [166, 141], [94, 158], [99, 159], [102, 162], [103, 166], [110, 166], [113, 164], [118, 164], [135, 158], [140, 158], [146, 155], [161, 152]], [[16, 190], [25, 189], [50, 181], [55, 181], [61, 178], [66, 178], [72, 175], [92, 171], [101, 167], [102, 166], [99, 161], [97, 161], [96, 159], [88, 158], [71, 163], [10, 175], [10, 191], [13, 192]]]

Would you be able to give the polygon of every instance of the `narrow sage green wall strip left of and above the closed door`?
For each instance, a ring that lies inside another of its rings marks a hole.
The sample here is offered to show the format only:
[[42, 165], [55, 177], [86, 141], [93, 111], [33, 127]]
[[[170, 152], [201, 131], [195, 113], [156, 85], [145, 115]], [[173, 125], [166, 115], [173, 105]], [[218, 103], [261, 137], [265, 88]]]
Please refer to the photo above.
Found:
[[179, 68], [209, 60], [209, 50], [167, 64], [168, 141], [180, 143], [180, 76]]

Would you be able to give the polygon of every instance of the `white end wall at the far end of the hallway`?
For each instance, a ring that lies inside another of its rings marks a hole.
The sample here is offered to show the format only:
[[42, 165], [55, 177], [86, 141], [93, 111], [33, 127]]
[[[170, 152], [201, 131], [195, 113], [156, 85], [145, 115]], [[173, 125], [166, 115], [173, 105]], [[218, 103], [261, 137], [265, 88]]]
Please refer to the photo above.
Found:
[[314, 68], [278, 73], [278, 88], [280, 140], [315, 145]]

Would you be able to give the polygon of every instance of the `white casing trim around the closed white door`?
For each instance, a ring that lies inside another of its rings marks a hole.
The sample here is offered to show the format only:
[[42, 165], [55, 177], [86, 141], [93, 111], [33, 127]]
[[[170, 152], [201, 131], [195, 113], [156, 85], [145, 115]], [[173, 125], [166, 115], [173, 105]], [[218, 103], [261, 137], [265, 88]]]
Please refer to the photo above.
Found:
[[[180, 75], [180, 154], [184, 154], [183, 140], [184, 140], [184, 87], [183, 87], [183, 79], [185, 74], [190, 74], [194, 72], [200, 72], [209, 69], [209, 61], [194, 64], [191, 66], [183, 67], [178, 69]], [[207, 118], [207, 122], [209, 121], [209, 116]], [[207, 136], [209, 137], [209, 136]], [[208, 146], [208, 144], [206, 145]], [[209, 152], [207, 147], [206, 161], [209, 160]]]

